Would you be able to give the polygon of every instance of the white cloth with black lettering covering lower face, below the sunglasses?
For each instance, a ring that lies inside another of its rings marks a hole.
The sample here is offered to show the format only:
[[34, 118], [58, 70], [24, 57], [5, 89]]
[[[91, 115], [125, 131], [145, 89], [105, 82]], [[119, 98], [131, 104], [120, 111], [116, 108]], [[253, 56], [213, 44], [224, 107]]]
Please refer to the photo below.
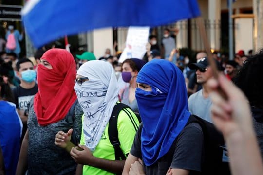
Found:
[[109, 121], [109, 114], [104, 115], [107, 106], [105, 96], [108, 89], [101, 81], [85, 81], [82, 85], [76, 83], [74, 89], [85, 115], [83, 119], [85, 123], [83, 130], [87, 133], [84, 134], [85, 145], [94, 151], [106, 126], [104, 124], [105, 126], [102, 127], [103, 123]]

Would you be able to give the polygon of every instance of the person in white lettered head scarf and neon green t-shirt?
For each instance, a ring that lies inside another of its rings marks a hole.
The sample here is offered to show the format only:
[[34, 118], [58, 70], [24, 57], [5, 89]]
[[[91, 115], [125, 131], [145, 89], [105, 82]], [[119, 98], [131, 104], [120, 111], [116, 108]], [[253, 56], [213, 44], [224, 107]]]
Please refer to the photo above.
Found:
[[[113, 67], [104, 61], [93, 60], [84, 63], [76, 75], [75, 92], [84, 112], [82, 135], [78, 147], [70, 140], [68, 133], [58, 132], [55, 144], [70, 151], [73, 159], [83, 166], [83, 175], [120, 174], [125, 160], [115, 160], [114, 148], [108, 136], [108, 123], [114, 106], [118, 103], [119, 88]], [[128, 111], [128, 112], [127, 112]], [[120, 147], [128, 155], [139, 121], [129, 108], [118, 115], [118, 136]]]

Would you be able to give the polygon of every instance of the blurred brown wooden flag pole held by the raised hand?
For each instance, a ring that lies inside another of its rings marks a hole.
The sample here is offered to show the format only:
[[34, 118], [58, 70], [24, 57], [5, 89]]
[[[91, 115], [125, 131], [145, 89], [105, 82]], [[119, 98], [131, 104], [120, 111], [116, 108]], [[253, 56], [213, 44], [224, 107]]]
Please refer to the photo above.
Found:
[[205, 51], [206, 51], [207, 56], [208, 56], [209, 65], [210, 65], [210, 67], [212, 69], [214, 77], [217, 79], [219, 72], [217, 70], [216, 63], [215, 63], [215, 61], [213, 60], [213, 57], [212, 57], [210, 44], [209, 44], [209, 41], [207, 39], [207, 34], [206, 34], [206, 30], [205, 30], [204, 20], [203, 20], [202, 17], [197, 17], [195, 19], [196, 19], [196, 22], [197, 22], [197, 26], [199, 27], [199, 32], [200, 32], [201, 38], [202, 38], [202, 40], [204, 42]]

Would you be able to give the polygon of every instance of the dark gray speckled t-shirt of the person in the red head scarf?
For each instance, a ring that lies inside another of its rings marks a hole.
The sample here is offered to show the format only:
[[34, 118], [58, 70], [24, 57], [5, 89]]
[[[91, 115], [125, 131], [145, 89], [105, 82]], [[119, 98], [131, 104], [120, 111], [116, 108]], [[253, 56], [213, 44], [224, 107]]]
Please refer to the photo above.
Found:
[[[71, 140], [80, 140], [83, 111], [79, 103], [75, 105], [75, 119]], [[69, 115], [69, 113], [67, 114]], [[40, 126], [34, 111], [33, 100], [28, 114], [28, 174], [29, 175], [75, 175], [76, 162], [63, 148], [54, 144], [55, 135], [70, 129], [66, 119], [47, 126]], [[76, 144], [76, 143], [75, 143]]]

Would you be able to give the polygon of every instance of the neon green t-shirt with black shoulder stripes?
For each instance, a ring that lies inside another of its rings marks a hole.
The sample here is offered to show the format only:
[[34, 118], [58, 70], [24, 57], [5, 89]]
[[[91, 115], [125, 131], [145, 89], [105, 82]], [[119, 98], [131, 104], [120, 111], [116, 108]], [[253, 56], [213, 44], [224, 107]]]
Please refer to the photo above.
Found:
[[[131, 113], [131, 116], [129, 116], [130, 114], [129, 113], [127, 114], [124, 110], [121, 110], [118, 115], [118, 122], [117, 122], [120, 148], [122, 149], [124, 155], [130, 152], [134, 140], [134, 136], [140, 124], [136, 115], [132, 112], [132, 110], [129, 108], [127, 108], [127, 110]], [[82, 120], [83, 117], [84, 114], [82, 116]], [[104, 133], [102, 134], [101, 140], [96, 146], [95, 151], [93, 152], [93, 156], [98, 158], [108, 159], [108, 160], [115, 160], [114, 148], [109, 140], [108, 127], [109, 127], [109, 123], [107, 124]], [[80, 144], [85, 145], [83, 128], [81, 133]], [[83, 175], [114, 175], [114, 174], [92, 166], [84, 165]]]

